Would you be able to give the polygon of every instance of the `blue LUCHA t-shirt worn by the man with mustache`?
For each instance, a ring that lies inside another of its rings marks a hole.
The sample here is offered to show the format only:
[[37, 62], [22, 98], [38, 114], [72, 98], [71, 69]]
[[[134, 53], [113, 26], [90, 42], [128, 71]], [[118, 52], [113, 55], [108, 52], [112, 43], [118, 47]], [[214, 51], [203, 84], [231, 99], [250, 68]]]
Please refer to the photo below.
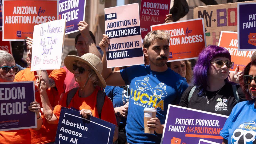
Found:
[[130, 84], [130, 98], [126, 124], [128, 143], [160, 143], [162, 134], [144, 133], [145, 108], [157, 106], [157, 118], [165, 124], [168, 104], [179, 104], [188, 87], [185, 78], [168, 69], [155, 72], [150, 66], [137, 65], [120, 71], [126, 85]]

